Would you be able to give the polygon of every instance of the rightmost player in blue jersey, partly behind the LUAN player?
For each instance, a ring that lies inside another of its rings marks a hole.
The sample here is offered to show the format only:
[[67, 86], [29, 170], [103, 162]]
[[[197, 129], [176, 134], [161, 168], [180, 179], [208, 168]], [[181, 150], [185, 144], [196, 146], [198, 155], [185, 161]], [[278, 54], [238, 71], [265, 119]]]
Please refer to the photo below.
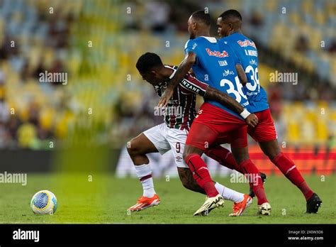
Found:
[[250, 103], [249, 110], [259, 119], [259, 124], [255, 128], [247, 128], [247, 133], [259, 143], [269, 160], [301, 190], [307, 201], [306, 212], [317, 213], [322, 203], [320, 197], [310, 189], [293, 161], [279, 148], [267, 95], [259, 84], [257, 48], [250, 38], [242, 34], [242, 16], [238, 11], [230, 9], [218, 17], [217, 26], [218, 34], [223, 37], [219, 41], [230, 45], [247, 75], [244, 90]]

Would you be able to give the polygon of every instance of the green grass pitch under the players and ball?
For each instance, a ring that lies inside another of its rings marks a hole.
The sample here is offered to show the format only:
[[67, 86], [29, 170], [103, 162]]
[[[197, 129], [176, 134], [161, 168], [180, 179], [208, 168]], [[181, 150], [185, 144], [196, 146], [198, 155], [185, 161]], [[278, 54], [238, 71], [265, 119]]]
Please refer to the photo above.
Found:
[[[257, 202], [240, 217], [230, 217], [232, 202], [214, 209], [208, 216], [193, 216], [205, 196], [182, 187], [178, 178], [155, 179], [161, 199], [157, 207], [128, 214], [128, 207], [142, 194], [135, 178], [116, 179], [108, 175], [32, 175], [28, 185], [0, 184], [0, 224], [335, 224], [336, 175], [305, 176], [308, 185], [319, 194], [323, 205], [318, 214], [303, 214], [306, 202], [301, 192], [285, 177], [269, 176], [264, 185], [272, 206], [271, 216], [256, 216]], [[248, 192], [245, 183], [231, 183], [230, 178], [216, 180], [234, 190]], [[35, 215], [30, 199], [39, 190], [55, 193], [55, 215]]]

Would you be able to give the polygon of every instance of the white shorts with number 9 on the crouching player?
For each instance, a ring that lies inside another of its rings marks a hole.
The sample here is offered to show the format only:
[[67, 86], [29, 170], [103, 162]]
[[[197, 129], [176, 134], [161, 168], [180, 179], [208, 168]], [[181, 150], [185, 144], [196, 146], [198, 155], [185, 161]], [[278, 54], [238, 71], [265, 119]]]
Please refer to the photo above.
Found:
[[172, 149], [178, 168], [189, 168], [182, 158], [188, 135], [186, 130], [181, 131], [177, 128], [168, 128], [166, 124], [159, 124], [143, 133], [162, 155]]

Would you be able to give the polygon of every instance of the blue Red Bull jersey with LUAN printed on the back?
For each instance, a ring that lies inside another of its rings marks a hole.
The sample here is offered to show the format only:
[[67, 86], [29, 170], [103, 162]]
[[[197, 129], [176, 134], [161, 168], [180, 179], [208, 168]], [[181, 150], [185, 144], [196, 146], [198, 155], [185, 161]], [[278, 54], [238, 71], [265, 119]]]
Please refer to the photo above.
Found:
[[[213, 37], [201, 36], [188, 40], [184, 50], [185, 53], [196, 54], [193, 71], [197, 79], [208, 83], [220, 92], [229, 94], [242, 106], [249, 105], [235, 69], [235, 65], [240, 64], [240, 61], [229, 45], [218, 43], [218, 40]], [[241, 118], [235, 111], [228, 109], [217, 101], [205, 101]]]

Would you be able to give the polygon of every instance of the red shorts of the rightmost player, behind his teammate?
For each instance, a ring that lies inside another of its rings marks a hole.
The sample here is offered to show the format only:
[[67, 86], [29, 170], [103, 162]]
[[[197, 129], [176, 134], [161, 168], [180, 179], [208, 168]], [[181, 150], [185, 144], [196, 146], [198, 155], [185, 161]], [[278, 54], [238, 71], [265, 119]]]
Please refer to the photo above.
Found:
[[258, 124], [254, 128], [247, 127], [247, 133], [258, 143], [276, 140], [274, 121], [269, 109], [254, 113], [258, 117]]

